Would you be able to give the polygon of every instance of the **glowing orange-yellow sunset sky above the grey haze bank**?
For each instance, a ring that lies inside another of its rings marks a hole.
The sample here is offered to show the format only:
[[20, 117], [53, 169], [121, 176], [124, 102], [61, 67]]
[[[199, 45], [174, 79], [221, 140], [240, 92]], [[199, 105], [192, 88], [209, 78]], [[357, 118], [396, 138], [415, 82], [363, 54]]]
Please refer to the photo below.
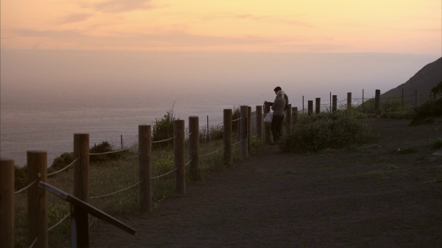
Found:
[[1, 48], [442, 54], [441, 0], [2, 0]]

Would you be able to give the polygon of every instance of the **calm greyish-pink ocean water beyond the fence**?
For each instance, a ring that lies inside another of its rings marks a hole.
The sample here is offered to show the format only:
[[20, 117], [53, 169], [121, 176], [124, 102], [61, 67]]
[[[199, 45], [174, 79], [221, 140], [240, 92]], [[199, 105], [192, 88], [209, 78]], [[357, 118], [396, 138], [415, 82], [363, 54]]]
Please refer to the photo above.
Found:
[[[249, 99], [211, 94], [174, 96], [173, 100], [159, 96], [124, 99], [91, 99], [90, 101], [2, 101], [0, 147], [1, 156], [12, 158], [16, 165], [26, 164], [26, 152], [48, 152], [48, 165], [64, 152], [73, 152], [73, 134], [87, 133], [90, 146], [102, 141], [115, 148], [137, 141], [138, 125], [152, 125], [171, 110], [187, 125], [189, 116], [199, 116], [200, 126], [222, 123], [224, 109], [250, 105], [255, 110], [264, 97]], [[246, 103], [249, 102], [249, 103]]]

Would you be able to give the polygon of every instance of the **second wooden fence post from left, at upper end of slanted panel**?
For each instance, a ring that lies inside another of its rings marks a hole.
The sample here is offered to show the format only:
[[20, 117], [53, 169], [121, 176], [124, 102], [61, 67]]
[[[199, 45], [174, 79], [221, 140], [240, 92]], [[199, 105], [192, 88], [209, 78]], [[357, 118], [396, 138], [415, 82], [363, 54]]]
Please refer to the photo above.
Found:
[[47, 154], [28, 151], [27, 159], [28, 185], [33, 183], [28, 188], [28, 242], [31, 245], [37, 237], [37, 247], [48, 247], [48, 196], [38, 186], [39, 181], [46, 183], [48, 179]]

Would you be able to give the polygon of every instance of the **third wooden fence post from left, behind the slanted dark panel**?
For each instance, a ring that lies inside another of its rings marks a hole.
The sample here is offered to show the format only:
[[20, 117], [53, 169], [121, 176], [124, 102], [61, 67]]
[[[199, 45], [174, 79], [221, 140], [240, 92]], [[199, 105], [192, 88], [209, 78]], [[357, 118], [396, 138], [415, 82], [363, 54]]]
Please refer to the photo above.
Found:
[[[89, 202], [89, 134], [74, 134], [74, 196]], [[89, 247], [88, 212], [79, 206], [71, 205], [71, 238], [77, 240], [78, 247]], [[73, 225], [75, 223], [75, 225]], [[74, 228], [73, 228], [74, 227]]]

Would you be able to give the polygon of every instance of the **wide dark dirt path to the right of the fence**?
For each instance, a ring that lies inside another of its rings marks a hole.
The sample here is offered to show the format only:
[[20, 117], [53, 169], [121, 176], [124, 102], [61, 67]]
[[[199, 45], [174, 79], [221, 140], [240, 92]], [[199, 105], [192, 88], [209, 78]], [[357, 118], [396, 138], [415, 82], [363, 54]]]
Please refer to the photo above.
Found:
[[441, 123], [408, 123], [376, 119], [382, 138], [356, 149], [268, 145], [151, 215], [117, 216], [135, 236], [93, 225], [91, 247], [441, 247], [442, 159], [429, 141]]

